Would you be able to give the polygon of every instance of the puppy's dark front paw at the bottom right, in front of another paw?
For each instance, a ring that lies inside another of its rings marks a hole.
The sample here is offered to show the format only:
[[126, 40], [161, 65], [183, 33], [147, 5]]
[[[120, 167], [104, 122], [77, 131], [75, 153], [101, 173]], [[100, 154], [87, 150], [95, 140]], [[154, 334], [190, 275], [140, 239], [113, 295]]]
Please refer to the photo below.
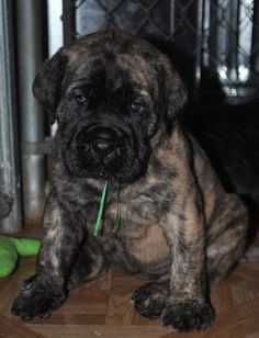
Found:
[[198, 301], [168, 304], [161, 315], [162, 325], [178, 333], [209, 328], [214, 318], [213, 307], [207, 303], [199, 303]]

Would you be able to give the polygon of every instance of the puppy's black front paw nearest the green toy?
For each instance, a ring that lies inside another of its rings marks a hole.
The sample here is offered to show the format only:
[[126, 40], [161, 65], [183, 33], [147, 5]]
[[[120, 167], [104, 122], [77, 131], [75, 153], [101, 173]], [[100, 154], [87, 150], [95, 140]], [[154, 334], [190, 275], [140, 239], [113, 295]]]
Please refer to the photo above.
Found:
[[54, 284], [44, 284], [35, 277], [31, 277], [23, 283], [11, 311], [22, 320], [31, 320], [35, 316], [44, 320], [49, 317], [53, 309], [60, 306], [65, 297], [65, 293], [59, 288], [55, 288]]

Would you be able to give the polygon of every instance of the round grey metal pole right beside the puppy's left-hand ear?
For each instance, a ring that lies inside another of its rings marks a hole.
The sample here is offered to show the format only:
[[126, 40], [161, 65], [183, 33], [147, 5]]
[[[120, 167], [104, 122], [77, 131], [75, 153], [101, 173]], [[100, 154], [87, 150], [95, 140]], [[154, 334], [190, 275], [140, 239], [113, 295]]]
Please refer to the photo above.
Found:
[[45, 157], [41, 150], [44, 114], [32, 94], [32, 83], [43, 59], [41, 10], [41, 1], [16, 1], [23, 213], [27, 222], [41, 217], [45, 198]]

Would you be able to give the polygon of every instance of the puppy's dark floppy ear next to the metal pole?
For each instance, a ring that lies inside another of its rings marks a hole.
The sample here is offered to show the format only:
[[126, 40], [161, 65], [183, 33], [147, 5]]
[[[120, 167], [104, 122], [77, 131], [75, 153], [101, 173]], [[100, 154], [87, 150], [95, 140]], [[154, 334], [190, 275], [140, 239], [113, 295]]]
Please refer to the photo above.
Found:
[[50, 123], [56, 120], [56, 109], [67, 63], [68, 57], [57, 52], [50, 59], [43, 63], [33, 82], [33, 94], [48, 111]]

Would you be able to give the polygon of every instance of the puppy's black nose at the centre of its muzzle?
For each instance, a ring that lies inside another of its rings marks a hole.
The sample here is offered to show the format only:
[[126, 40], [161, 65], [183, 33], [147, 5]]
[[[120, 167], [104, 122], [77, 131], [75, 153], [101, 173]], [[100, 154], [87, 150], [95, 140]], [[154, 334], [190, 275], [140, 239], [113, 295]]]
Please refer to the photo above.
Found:
[[92, 148], [95, 153], [110, 154], [114, 149], [116, 135], [113, 129], [98, 127], [92, 132]]

